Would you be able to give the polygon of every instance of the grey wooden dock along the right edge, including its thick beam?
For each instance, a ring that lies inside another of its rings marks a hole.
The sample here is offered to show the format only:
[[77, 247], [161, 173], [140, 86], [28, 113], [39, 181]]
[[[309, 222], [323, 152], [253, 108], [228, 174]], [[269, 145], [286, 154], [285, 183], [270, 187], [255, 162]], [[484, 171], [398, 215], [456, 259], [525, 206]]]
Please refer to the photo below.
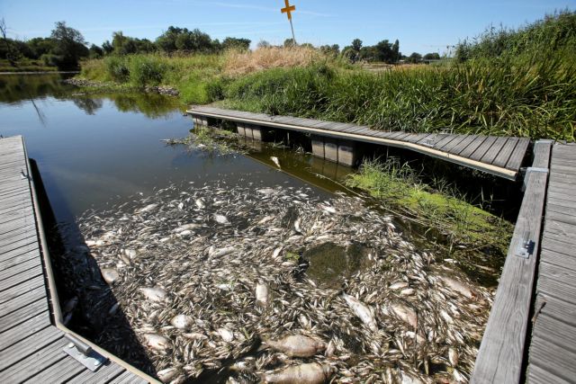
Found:
[[536, 143], [471, 382], [576, 381], [576, 145]]

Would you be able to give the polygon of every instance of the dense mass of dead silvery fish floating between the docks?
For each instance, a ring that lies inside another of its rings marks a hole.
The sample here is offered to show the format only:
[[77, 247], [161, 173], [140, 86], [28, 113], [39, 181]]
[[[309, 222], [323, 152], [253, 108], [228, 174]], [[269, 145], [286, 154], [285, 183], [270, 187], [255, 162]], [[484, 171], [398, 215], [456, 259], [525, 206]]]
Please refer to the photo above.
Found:
[[[85, 290], [85, 318], [103, 321], [99, 343], [136, 365], [131, 351], [145, 348], [166, 382], [467, 380], [493, 291], [417, 250], [362, 200], [312, 195], [185, 184], [86, 211], [78, 225], [90, 247], [76, 252], [119, 275]], [[296, 259], [351, 239], [371, 263], [337, 287]]]

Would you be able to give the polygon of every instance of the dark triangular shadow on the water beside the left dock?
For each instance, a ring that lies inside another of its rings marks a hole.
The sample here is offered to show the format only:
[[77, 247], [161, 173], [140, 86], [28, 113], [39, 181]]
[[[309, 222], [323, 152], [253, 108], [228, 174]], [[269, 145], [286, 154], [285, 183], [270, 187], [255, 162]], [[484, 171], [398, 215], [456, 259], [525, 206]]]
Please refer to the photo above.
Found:
[[[65, 225], [58, 223], [38, 165], [30, 161], [66, 326], [122, 361], [157, 377], [148, 353], [139, 343], [112, 290], [103, 281], [79, 228], [74, 220]], [[57, 188], [52, 187], [51, 191], [59, 194]]]

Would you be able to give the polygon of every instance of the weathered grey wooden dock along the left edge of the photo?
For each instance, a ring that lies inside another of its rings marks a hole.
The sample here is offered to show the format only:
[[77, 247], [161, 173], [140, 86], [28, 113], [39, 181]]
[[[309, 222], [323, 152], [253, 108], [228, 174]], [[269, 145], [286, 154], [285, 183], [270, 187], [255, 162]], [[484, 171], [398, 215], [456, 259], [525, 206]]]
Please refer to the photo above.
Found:
[[[108, 358], [95, 372], [64, 352], [40, 213], [23, 138], [0, 138], [0, 378], [3, 383], [146, 383], [153, 379]], [[74, 335], [77, 340], [84, 341]]]

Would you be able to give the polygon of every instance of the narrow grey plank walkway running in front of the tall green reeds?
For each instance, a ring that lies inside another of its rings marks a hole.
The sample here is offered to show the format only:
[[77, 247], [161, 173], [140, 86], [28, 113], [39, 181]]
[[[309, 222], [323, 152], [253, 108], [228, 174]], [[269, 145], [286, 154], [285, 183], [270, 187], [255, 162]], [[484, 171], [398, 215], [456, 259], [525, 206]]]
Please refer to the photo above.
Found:
[[231, 111], [205, 106], [193, 106], [187, 113], [193, 117], [242, 122], [268, 128], [289, 129], [319, 136], [401, 147], [510, 180], [517, 178], [530, 143], [529, 138], [386, 132], [356, 124], [270, 116], [264, 113]]

